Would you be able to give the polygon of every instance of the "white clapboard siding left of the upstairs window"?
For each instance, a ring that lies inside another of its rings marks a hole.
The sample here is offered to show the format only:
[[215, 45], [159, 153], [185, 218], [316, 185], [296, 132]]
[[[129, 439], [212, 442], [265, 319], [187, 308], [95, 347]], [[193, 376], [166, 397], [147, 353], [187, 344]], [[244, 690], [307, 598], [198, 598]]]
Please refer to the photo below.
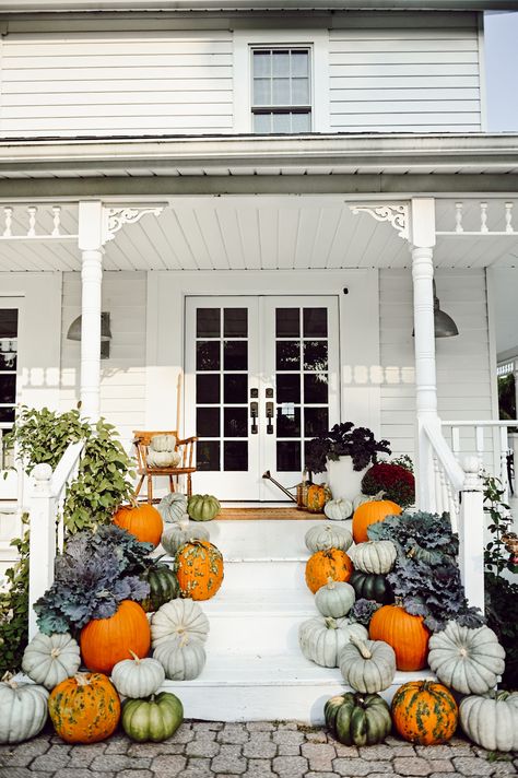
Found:
[[233, 128], [229, 32], [19, 33], [1, 55], [7, 138]]

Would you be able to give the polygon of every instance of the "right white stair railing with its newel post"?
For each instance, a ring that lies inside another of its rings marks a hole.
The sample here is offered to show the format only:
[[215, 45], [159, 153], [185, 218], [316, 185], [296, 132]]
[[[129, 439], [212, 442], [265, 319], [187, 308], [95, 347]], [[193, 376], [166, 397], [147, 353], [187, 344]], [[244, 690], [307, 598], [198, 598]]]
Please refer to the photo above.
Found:
[[[450, 515], [459, 534], [459, 567], [470, 605], [484, 611], [484, 497], [476, 457], [466, 457], [462, 465], [445, 440], [440, 426], [424, 422], [422, 434], [429, 458], [420, 463], [420, 478], [427, 478], [431, 505], [422, 510]], [[428, 472], [427, 472], [428, 470]]]

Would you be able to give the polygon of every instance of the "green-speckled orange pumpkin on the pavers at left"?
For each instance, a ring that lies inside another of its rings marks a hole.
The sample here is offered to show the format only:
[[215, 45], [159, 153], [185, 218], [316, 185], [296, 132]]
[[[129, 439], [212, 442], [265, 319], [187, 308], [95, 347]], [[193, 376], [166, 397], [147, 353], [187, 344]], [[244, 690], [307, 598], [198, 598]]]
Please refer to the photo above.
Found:
[[120, 700], [106, 675], [78, 673], [54, 687], [48, 711], [66, 743], [97, 743], [116, 730]]

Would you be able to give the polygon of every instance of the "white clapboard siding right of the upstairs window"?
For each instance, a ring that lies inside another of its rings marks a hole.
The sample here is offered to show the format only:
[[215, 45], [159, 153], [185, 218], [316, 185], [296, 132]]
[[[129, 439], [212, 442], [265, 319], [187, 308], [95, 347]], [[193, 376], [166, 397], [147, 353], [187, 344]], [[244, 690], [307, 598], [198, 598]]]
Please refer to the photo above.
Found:
[[329, 73], [333, 131], [481, 129], [474, 14], [351, 14], [330, 33]]

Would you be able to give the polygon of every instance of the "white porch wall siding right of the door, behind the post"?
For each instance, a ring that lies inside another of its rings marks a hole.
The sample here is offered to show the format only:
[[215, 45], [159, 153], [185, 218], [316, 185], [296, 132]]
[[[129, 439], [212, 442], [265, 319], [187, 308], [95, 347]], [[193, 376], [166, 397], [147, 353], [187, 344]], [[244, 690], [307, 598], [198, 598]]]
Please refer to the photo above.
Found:
[[[491, 419], [491, 366], [483, 270], [438, 271], [440, 307], [459, 328], [435, 341], [443, 419]], [[414, 456], [415, 373], [410, 270], [379, 272], [381, 433], [396, 453]]]

